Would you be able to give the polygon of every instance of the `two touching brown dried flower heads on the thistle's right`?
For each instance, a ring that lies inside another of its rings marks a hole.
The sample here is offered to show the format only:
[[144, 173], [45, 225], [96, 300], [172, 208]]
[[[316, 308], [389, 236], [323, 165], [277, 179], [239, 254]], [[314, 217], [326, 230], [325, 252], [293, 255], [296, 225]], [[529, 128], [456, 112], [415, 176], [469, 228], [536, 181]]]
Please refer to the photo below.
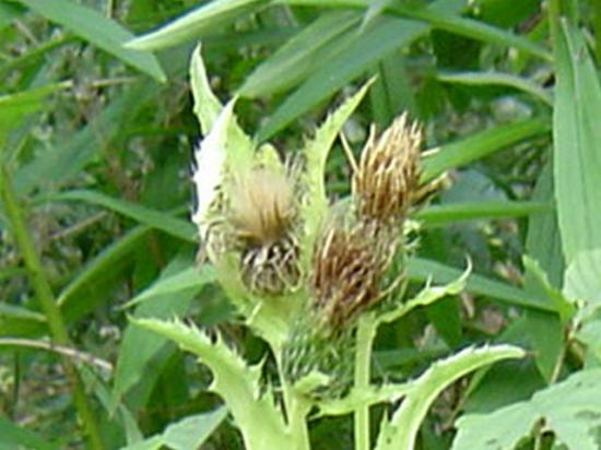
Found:
[[314, 253], [313, 309], [323, 330], [341, 330], [388, 291], [382, 280], [420, 188], [421, 142], [421, 130], [406, 115], [379, 138], [372, 130], [353, 174], [352, 217], [329, 225]]

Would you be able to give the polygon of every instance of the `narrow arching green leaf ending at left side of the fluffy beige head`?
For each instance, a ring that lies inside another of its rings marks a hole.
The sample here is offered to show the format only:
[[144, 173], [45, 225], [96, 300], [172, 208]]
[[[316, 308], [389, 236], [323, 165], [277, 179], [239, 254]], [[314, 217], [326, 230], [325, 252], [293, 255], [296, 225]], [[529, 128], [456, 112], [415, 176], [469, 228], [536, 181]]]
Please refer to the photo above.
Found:
[[126, 217], [133, 218], [140, 224], [160, 229], [167, 235], [177, 237], [181, 240], [188, 242], [196, 242], [197, 240], [196, 227], [190, 222], [174, 217], [167, 212], [151, 210], [150, 208], [145, 208], [140, 204], [105, 196], [102, 192], [73, 190], [50, 193], [48, 196], [43, 196], [37, 200], [43, 202], [80, 201], [96, 204], [125, 215]]

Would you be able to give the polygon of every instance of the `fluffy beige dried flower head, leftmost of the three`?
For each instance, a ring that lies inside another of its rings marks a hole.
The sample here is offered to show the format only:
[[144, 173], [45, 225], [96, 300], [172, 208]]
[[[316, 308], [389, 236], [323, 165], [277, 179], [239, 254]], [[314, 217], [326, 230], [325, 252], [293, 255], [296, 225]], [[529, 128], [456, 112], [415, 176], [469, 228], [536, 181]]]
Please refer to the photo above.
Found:
[[296, 197], [290, 174], [256, 167], [228, 191], [227, 218], [240, 252], [241, 277], [250, 291], [282, 294], [297, 285]]

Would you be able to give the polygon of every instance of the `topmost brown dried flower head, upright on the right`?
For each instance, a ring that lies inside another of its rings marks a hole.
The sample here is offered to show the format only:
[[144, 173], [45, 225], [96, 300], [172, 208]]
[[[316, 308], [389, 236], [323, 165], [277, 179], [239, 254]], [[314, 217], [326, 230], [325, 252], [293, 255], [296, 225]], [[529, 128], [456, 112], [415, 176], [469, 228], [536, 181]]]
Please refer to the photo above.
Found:
[[403, 220], [420, 185], [422, 131], [406, 114], [376, 138], [374, 129], [353, 175], [358, 217], [388, 224]]

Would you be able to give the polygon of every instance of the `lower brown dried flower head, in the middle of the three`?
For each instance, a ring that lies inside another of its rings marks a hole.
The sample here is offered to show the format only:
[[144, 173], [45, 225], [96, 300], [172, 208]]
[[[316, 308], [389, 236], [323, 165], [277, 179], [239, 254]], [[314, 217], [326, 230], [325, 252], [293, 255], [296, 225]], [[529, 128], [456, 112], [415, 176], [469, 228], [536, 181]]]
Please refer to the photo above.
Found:
[[314, 253], [314, 311], [327, 330], [340, 330], [380, 297], [379, 284], [391, 253], [376, 228], [331, 225]]

